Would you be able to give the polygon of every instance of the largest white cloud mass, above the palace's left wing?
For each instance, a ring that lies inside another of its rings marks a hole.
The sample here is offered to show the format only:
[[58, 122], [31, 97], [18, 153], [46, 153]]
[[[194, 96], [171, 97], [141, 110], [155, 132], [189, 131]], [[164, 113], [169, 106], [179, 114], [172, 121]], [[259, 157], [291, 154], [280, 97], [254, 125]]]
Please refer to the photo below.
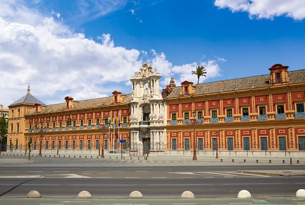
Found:
[[[26, 94], [28, 83], [46, 104], [62, 102], [66, 95], [80, 100], [114, 90], [126, 92], [116, 83], [129, 81], [142, 65], [139, 51], [115, 47], [108, 34], [96, 43], [52, 17], [43, 18], [11, 3], [3, 6], [12, 11], [0, 15], [0, 103], [4, 106]], [[27, 14], [37, 19], [19, 18]]]

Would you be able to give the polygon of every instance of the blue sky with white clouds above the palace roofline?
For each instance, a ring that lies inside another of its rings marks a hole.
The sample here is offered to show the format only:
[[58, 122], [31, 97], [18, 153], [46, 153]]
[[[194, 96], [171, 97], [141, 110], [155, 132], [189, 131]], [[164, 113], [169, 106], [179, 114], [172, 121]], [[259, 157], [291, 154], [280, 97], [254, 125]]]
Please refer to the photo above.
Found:
[[0, 104], [131, 93], [148, 61], [160, 88], [305, 68], [301, 0], [0, 0]]

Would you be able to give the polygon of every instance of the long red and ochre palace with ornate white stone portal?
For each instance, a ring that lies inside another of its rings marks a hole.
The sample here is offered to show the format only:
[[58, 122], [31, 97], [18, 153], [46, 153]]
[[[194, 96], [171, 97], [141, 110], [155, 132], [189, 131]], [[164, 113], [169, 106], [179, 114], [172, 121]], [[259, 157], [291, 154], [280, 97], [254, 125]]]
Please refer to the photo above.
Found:
[[178, 87], [172, 78], [162, 93], [160, 78], [145, 62], [131, 77], [131, 93], [66, 96], [54, 105], [28, 87], [9, 106], [7, 150], [131, 156], [305, 150], [305, 70], [275, 64], [267, 75]]

